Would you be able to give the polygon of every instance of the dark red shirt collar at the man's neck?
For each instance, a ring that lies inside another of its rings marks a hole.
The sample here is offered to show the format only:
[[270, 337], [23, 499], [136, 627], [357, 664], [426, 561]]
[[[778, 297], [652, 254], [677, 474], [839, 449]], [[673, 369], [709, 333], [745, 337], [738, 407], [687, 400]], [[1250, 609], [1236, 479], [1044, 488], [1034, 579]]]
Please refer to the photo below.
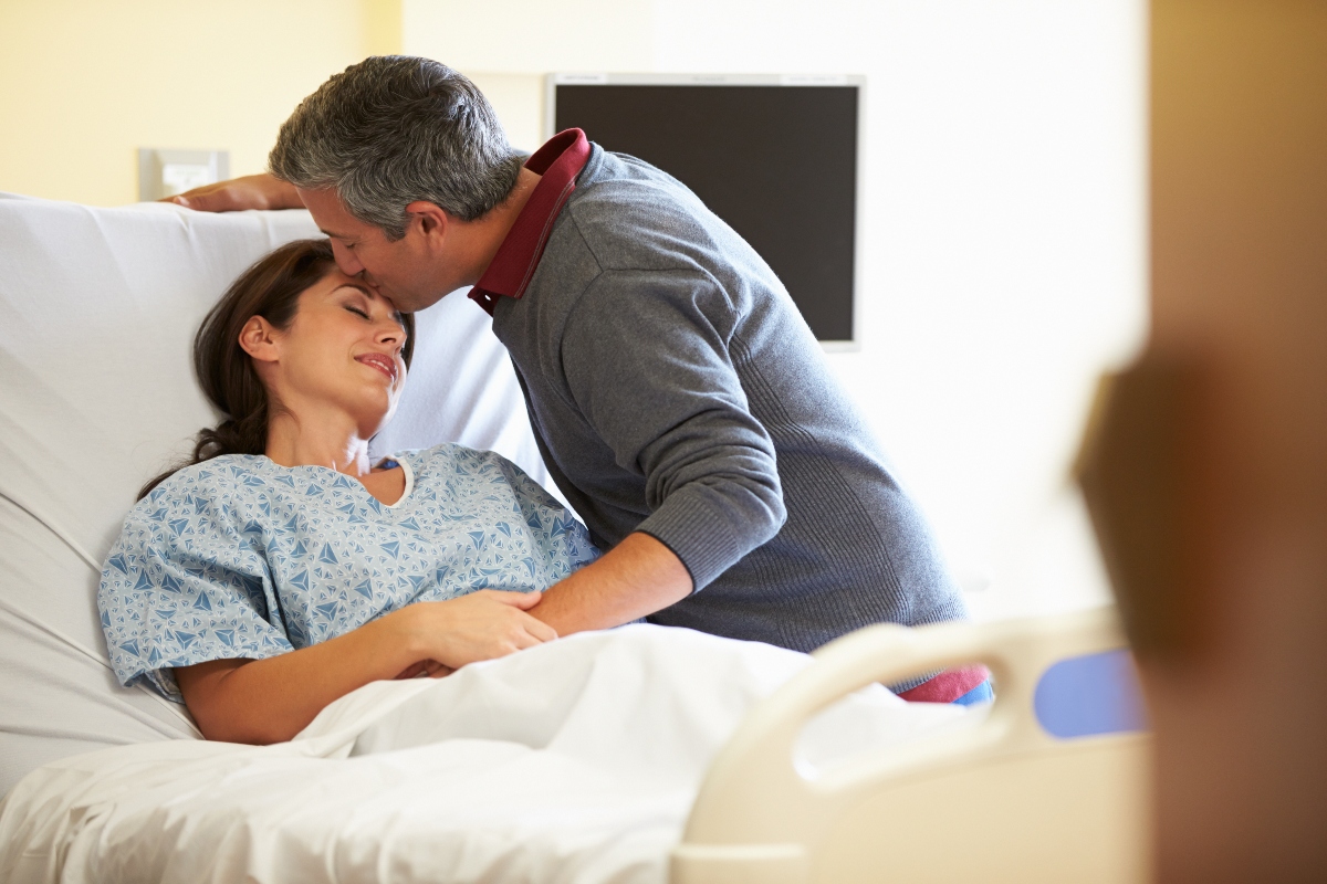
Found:
[[525, 162], [525, 168], [543, 178], [516, 216], [507, 239], [498, 247], [488, 269], [470, 290], [470, 298], [488, 315], [492, 315], [499, 297], [520, 298], [525, 294], [553, 221], [576, 190], [576, 176], [588, 162], [589, 142], [579, 129], [557, 133]]

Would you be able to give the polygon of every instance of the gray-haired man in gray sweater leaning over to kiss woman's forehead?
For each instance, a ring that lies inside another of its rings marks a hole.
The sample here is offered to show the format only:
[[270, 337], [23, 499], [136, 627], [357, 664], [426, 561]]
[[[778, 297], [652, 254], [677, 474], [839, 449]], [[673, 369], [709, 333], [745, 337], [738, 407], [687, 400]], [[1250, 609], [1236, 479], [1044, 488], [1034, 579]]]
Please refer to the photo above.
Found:
[[[304, 99], [269, 166], [176, 201], [307, 207], [398, 309], [470, 285], [492, 315], [544, 461], [609, 550], [531, 610], [559, 634], [644, 616], [811, 651], [965, 616], [783, 285], [671, 176], [577, 129], [522, 163], [470, 81], [399, 56]], [[898, 687], [966, 702], [985, 677]]]

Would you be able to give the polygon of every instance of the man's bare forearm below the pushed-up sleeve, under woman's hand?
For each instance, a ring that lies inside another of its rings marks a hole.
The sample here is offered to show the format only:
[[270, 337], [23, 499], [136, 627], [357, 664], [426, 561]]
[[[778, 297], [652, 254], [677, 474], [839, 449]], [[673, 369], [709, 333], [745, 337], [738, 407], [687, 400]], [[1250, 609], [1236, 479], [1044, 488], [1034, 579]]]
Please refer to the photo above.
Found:
[[569, 635], [654, 614], [691, 594], [691, 575], [649, 534], [628, 534], [597, 562], [551, 587], [529, 614]]

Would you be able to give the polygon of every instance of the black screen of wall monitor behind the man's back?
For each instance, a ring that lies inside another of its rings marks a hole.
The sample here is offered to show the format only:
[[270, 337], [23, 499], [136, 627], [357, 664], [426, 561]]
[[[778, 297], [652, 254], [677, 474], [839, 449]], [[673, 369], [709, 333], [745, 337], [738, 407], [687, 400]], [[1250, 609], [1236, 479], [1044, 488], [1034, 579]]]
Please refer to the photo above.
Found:
[[555, 131], [681, 180], [768, 261], [816, 338], [852, 339], [856, 86], [555, 89]]

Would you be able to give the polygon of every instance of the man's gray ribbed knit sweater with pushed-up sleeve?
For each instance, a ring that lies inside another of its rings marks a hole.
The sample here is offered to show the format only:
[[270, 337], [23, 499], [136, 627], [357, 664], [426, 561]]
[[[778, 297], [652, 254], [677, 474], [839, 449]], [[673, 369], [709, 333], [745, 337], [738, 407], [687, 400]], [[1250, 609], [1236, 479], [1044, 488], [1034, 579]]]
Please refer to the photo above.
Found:
[[650, 622], [811, 651], [965, 615], [788, 293], [674, 178], [594, 146], [494, 331], [593, 541], [645, 531], [690, 571]]

